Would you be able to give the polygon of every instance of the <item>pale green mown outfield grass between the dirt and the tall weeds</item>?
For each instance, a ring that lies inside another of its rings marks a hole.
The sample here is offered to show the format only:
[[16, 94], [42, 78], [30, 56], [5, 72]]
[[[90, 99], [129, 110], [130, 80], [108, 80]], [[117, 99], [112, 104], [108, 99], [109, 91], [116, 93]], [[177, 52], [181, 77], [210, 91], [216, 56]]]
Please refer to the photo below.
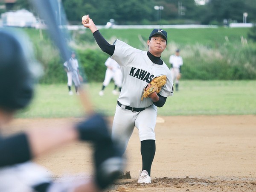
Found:
[[[160, 116], [188, 115], [256, 115], [256, 81], [180, 81], [180, 90], [169, 97]], [[105, 88], [105, 95], [98, 92], [102, 83], [86, 85], [90, 99], [98, 111], [113, 116], [117, 96], [111, 91], [113, 82]], [[74, 88], [73, 88], [74, 90]], [[66, 84], [39, 84], [35, 99], [19, 118], [79, 117], [84, 115], [79, 96], [69, 96]]]

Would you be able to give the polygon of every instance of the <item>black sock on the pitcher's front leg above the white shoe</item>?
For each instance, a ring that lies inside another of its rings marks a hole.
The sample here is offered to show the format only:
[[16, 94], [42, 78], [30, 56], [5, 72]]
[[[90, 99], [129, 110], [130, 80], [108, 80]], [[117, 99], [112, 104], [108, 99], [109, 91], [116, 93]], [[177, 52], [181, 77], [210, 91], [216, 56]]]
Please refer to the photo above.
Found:
[[140, 153], [142, 157], [142, 171], [146, 170], [150, 176], [151, 165], [156, 153], [155, 140], [144, 140], [140, 142]]

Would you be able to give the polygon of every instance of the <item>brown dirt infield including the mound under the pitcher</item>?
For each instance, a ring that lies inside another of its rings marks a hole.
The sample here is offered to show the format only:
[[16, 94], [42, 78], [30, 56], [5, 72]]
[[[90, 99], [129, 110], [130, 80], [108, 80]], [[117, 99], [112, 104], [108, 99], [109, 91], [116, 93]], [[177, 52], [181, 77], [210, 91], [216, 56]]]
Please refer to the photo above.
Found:
[[[62, 126], [79, 119], [17, 119], [11, 131]], [[110, 123], [113, 117], [110, 117]], [[109, 192], [256, 191], [256, 116], [160, 116], [151, 169], [152, 183], [137, 184], [141, 169], [135, 128], [126, 153], [131, 179], [118, 180]], [[73, 143], [36, 161], [55, 177], [93, 172], [88, 143]]]

